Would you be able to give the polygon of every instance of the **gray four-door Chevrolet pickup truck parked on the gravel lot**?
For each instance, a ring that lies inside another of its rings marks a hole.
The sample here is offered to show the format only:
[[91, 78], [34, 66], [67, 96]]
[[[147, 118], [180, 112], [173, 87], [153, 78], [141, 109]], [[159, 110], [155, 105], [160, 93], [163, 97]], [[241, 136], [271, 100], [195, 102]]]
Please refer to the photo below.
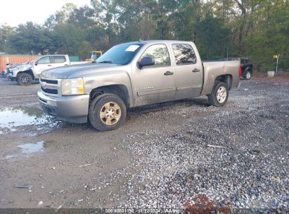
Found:
[[134, 106], [200, 95], [224, 106], [239, 79], [240, 61], [202, 63], [193, 42], [130, 42], [113, 46], [96, 63], [44, 71], [38, 96], [49, 115], [106, 131], [120, 127]]

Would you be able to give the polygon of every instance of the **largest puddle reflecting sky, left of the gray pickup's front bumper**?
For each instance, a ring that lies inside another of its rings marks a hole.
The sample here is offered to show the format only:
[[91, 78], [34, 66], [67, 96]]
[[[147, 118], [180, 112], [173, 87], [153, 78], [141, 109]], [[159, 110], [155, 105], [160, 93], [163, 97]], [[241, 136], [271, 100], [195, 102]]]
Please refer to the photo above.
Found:
[[21, 125], [41, 125], [49, 123], [51, 117], [44, 115], [39, 108], [18, 106], [14, 108], [4, 108], [0, 110], [0, 127], [8, 128], [11, 132], [13, 127]]

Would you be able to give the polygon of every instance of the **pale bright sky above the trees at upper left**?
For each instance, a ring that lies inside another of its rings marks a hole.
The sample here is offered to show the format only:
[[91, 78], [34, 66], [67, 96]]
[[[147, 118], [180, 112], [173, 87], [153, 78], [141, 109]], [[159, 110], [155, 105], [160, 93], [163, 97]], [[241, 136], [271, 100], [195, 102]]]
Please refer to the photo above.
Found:
[[90, 0], [4, 0], [1, 1], [0, 24], [17, 26], [27, 21], [44, 24], [49, 15], [67, 3], [83, 6], [89, 5]]

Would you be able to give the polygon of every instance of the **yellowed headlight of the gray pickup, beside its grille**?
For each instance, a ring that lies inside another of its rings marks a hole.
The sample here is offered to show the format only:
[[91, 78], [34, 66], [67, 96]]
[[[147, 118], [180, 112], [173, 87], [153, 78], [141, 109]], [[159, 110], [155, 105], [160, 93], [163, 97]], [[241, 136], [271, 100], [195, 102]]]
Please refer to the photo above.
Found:
[[63, 79], [61, 81], [61, 92], [63, 95], [84, 94], [83, 79]]

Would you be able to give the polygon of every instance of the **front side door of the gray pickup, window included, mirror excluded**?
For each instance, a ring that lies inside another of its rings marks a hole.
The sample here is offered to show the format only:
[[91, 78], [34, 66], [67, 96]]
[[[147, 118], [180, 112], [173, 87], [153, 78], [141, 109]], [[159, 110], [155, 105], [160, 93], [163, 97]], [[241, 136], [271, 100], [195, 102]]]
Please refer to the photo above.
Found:
[[[176, 92], [174, 67], [165, 44], [149, 46], [141, 58], [150, 56], [155, 64], [134, 72], [135, 106], [172, 101]], [[139, 61], [141, 61], [139, 58]]]

